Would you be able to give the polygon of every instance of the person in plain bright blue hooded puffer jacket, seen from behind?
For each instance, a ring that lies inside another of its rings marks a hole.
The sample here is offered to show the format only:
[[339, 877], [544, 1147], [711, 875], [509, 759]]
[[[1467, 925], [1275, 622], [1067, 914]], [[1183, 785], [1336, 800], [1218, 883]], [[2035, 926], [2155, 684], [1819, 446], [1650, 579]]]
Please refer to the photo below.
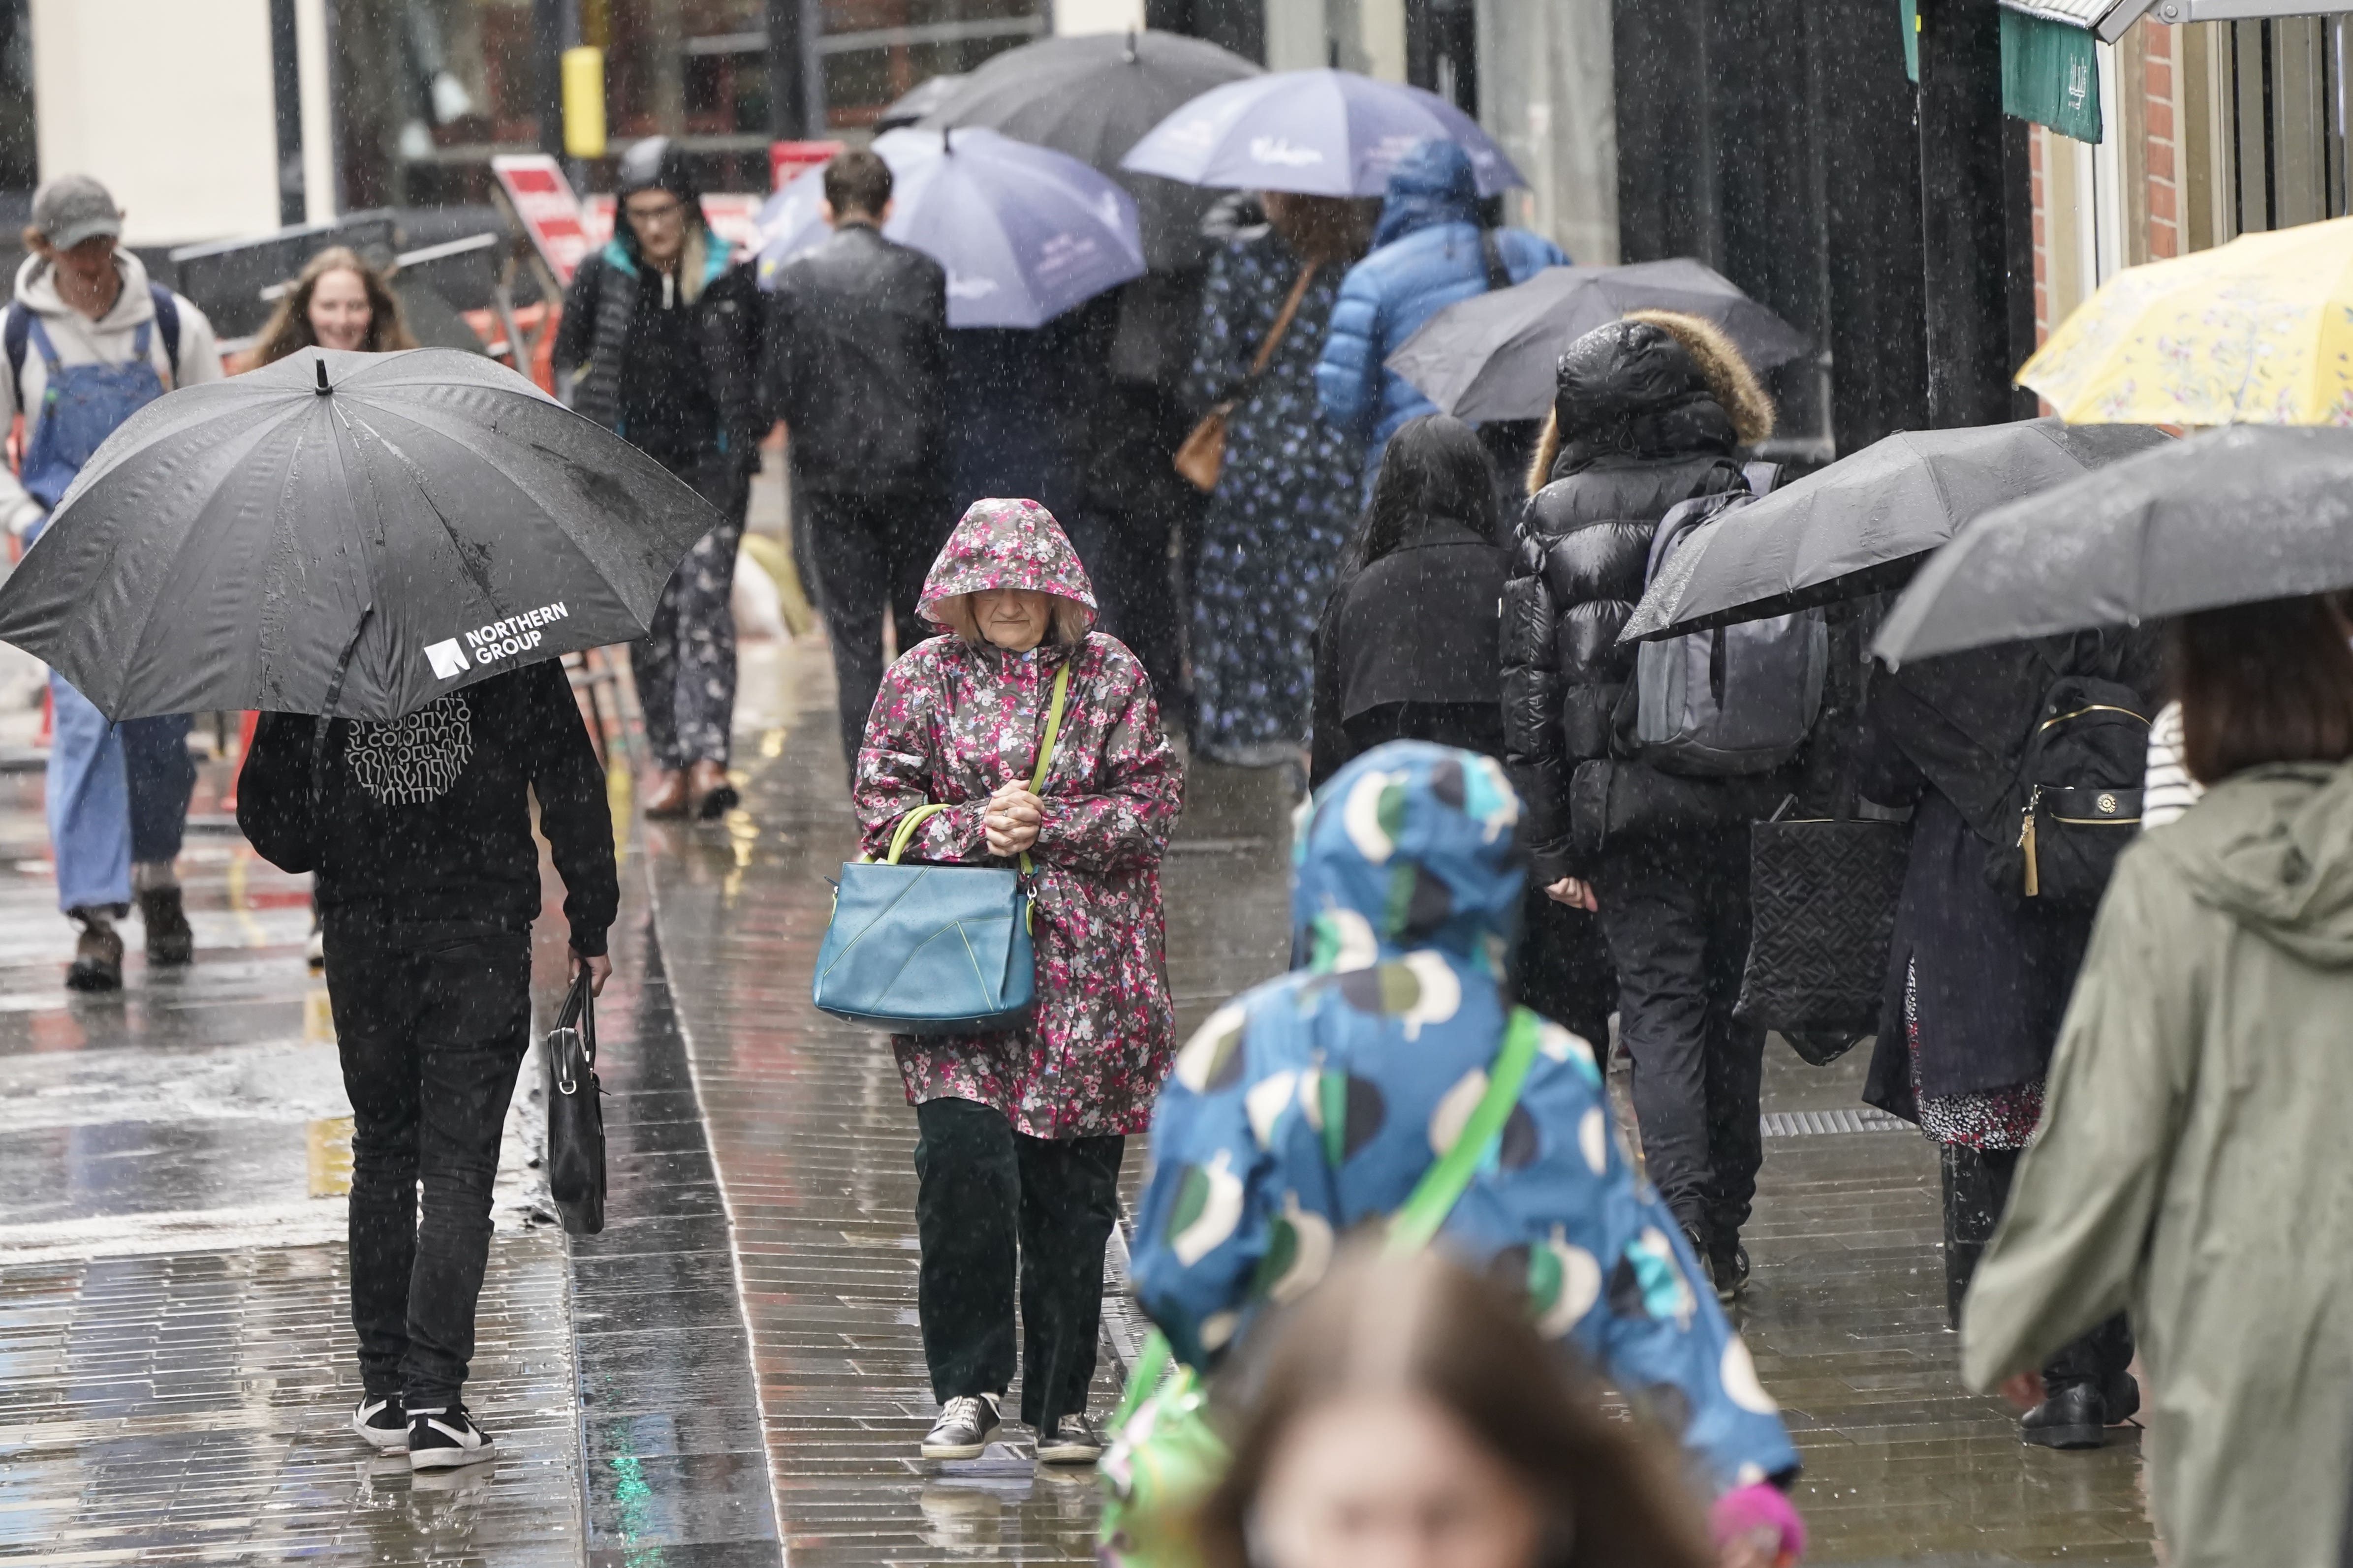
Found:
[[[1480, 235], [1471, 155], [1435, 139], [1407, 150], [1388, 174], [1388, 200], [1372, 230], [1372, 254], [1341, 280], [1322, 362], [1315, 367], [1325, 421], [1365, 442], [1367, 494], [1372, 475], [1381, 473], [1381, 449], [1398, 425], [1438, 414], [1438, 404], [1384, 362], [1421, 322], [1487, 292], [1487, 247]], [[1494, 230], [1494, 249], [1511, 282], [1527, 282], [1544, 268], [1569, 261], [1558, 244], [1525, 228]]]

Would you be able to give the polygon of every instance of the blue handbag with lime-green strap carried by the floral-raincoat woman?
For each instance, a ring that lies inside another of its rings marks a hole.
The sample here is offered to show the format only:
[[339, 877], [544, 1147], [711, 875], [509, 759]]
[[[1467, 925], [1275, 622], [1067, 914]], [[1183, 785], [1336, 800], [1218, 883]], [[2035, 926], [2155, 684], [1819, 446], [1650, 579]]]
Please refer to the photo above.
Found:
[[[1045, 745], [1031, 795], [1045, 788], [1061, 733], [1071, 665], [1054, 672]], [[1031, 858], [991, 865], [899, 865], [908, 839], [944, 804], [899, 818], [887, 860], [842, 865], [833, 919], [816, 950], [816, 1009], [892, 1034], [981, 1034], [1031, 1013], [1038, 990], [1031, 950]]]

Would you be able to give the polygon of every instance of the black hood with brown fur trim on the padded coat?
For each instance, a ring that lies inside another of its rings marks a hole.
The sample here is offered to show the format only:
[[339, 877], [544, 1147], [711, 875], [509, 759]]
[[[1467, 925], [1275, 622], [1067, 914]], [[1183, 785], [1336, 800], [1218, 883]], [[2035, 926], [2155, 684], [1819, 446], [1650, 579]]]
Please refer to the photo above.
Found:
[[1527, 494], [1607, 454], [1732, 454], [1772, 435], [1774, 407], [1725, 331], [1697, 315], [1633, 310], [1569, 343]]

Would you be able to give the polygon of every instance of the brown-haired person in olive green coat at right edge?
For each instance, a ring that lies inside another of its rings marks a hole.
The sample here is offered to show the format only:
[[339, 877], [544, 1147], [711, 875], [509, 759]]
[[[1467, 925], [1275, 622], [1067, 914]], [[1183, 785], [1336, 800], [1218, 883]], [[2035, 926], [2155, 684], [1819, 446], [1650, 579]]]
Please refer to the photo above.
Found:
[[[2174, 1568], [2334, 1568], [2353, 1462], [2353, 651], [2329, 599], [2177, 630], [2209, 785], [2125, 851], [1962, 1373], [2129, 1307]], [[2007, 1380], [2007, 1382], [2005, 1382]]]

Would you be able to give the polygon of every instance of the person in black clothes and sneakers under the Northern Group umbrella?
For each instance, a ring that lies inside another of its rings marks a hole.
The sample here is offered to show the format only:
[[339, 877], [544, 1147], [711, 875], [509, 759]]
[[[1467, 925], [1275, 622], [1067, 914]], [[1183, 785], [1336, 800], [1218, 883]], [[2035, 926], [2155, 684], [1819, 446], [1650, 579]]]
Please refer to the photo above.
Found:
[[[412, 1469], [492, 1455], [459, 1403], [489, 1262], [489, 1190], [529, 1044], [539, 846], [572, 964], [602, 987], [619, 910], [612, 809], [562, 663], [492, 675], [388, 724], [266, 712], [238, 827], [315, 872], [351, 1095], [353, 1429]], [[416, 1187], [424, 1182], [424, 1225]]]

